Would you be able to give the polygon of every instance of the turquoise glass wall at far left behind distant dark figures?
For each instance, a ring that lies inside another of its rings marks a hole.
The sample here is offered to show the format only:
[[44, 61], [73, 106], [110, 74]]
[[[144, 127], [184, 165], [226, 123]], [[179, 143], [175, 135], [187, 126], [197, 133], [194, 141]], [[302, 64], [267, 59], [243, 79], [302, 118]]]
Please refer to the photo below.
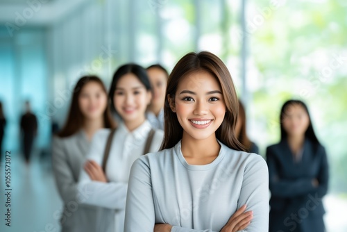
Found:
[[37, 147], [50, 143], [50, 118], [44, 110], [49, 96], [44, 28], [25, 28], [8, 36], [0, 28], [0, 101], [7, 119], [6, 137], [3, 147], [19, 149], [19, 122], [24, 113], [24, 102], [30, 101], [38, 120]]

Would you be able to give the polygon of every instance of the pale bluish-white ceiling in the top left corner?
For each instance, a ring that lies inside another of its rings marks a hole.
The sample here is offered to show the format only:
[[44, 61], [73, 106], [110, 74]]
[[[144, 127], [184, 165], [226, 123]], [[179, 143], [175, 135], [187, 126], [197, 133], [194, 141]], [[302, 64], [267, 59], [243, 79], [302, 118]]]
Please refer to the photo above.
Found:
[[[29, 2], [36, 4], [31, 5]], [[87, 2], [87, 0], [0, 0], [0, 24], [46, 26]]]

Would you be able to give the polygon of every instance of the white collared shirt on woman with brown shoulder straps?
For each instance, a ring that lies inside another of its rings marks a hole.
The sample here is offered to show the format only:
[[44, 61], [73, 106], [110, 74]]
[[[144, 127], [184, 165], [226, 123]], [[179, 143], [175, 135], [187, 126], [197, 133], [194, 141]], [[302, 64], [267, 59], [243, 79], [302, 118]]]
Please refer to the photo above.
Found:
[[[84, 169], [81, 171], [78, 183], [79, 194], [82, 195], [82, 197], [80, 196], [81, 203], [115, 209], [116, 232], [123, 231], [126, 190], [131, 165], [143, 155], [151, 128], [151, 124], [147, 120], [134, 131], [128, 131], [124, 122], [119, 124], [112, 138], [106, 164], [105, 172], [108, 183], [92, 181]], [[94, 160], [101, 165], [109, 135], [110, 129], [101, 129], [95, 133], [87, 160]], [[160, 149], [163, 136], [163, 131], [155, 131], [150, 152]]]

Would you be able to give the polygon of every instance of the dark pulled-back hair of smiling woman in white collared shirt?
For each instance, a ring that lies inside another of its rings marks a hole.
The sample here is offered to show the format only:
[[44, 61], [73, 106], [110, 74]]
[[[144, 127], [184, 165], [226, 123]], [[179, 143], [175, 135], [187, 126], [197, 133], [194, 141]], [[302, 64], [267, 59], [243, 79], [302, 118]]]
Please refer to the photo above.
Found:
[[115, 101], [113, 99], [115, 95], [115, 90], [117, 88], [117, 83], [119, 79], [125, 74], [134, 74], [139, 81], [144, 85], [147, 91], [151, 91], [151, 83], [149, 82], [149, 76], [147, 75], [146, 69], [144, 69], [140, 65], [136, 65], [133, 63], [122, 65], [117, 69], [115, 74], [113, 74], [112, 83], [110, 86], [110, 92], [108, 92], [108, 98], [110, 99], [110, 108], [117, 113], [115, 108]]

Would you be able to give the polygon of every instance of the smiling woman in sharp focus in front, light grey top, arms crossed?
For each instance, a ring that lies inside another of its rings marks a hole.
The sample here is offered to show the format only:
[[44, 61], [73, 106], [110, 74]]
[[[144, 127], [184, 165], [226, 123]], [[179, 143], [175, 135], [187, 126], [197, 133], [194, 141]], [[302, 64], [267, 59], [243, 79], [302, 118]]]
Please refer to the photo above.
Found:
[[203, 51], [169, 76], [161, 151], [130, 172], [125, 231], [268, 230], [265, 160], [235, 136], [237, 94], [228, 68]]

